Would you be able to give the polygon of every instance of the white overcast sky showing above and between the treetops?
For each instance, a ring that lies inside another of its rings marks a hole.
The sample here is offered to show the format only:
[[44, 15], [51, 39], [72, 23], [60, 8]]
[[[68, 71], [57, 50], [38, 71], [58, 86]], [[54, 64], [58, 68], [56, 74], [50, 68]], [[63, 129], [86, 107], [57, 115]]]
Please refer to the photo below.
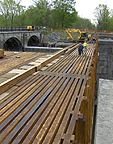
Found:
[[[113, 0], [75, 0], [75, 9], [78, 12], [78, 15], [82, 18], [88, 18], [91, 22], [94, 22], [94, 10], [99, 4], [106, 4], [107, 7], [111, 10], [113, 9]], [[22, 0], [22, 5], [28, 7], [33, 4], [32, 0]]]

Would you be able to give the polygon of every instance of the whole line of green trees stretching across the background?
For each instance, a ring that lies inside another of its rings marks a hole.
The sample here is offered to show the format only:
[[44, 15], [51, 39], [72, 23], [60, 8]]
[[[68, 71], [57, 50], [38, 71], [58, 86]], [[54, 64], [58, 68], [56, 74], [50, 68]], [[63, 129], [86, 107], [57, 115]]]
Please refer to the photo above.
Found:
[[21, 0], [0, 1], [0, 27], [35, 25], [37, 28], [113, 30], [113, 10], [104, 4], [95, 8], [95, 25], [90, 19], [78, 16], [75, 0], [33, 0], [27, 9], [20, 3]]

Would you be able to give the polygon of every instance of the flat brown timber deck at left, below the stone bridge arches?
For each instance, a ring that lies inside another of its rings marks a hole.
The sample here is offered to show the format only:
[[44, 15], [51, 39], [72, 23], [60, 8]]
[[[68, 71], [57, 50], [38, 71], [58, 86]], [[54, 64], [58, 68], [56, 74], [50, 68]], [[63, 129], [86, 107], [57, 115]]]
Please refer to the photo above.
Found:
[[14, 68], [35, 61], [47, 53], [4, 51], [4, 55], [5, 57], [0, 59], [0, 76]]

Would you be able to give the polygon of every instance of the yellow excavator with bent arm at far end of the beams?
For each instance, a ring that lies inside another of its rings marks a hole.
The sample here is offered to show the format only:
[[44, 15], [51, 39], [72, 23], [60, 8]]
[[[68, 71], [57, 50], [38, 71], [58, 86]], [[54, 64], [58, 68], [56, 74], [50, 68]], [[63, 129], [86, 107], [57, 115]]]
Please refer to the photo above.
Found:
[[90, 34], [88, 35], [87, 32], [85, 32], [85, 31], [81, 32], [79, 29], [66, 29], [66, 32], [69, 35], [69, 37], [72, 39], [73, 42], [75, 42], [75, 40], [73, 39], [73, 37], [71, 35], [71, 32], [78, 32], [78, 34], [79, 34], [79, 37], [78, 37], [79, 42], [88, 41], [89, 38], [91, 38]]

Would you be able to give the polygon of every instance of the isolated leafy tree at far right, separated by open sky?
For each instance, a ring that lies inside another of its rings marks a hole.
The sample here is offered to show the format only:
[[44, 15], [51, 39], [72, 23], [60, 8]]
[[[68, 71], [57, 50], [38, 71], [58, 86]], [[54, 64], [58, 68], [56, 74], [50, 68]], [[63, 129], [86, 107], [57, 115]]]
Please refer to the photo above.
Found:
[[99, 4], [99, 6], [95, 8], [94, 16], [97, 21], [98, 30], [107, 30], [109, 28], [109, 14], [107, 5]]

